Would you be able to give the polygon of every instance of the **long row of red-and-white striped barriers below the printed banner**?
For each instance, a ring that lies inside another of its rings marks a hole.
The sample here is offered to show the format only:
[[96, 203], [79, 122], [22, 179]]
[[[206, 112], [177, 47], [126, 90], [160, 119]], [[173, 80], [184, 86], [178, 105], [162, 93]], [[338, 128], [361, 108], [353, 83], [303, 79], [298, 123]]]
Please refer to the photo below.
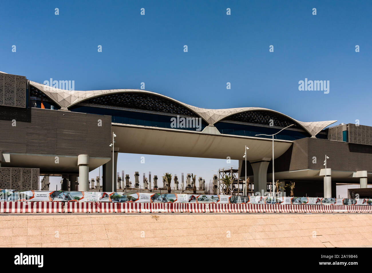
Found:
[[215, 204], [215, 203], [137, 203], [137, 202], [49, 202], [3, 201], [0, 213], [113, 213], [113, 212], [372, 212], [372, 205], [300, 205], [300, 204]]

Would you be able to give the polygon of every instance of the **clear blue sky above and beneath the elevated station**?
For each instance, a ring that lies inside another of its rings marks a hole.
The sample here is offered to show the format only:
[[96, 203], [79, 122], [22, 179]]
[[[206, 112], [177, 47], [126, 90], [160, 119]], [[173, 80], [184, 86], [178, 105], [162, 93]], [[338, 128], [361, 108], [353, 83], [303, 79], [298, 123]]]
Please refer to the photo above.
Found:
[[[0, 71], [74, 80], [76, 90], [145, 82], [198, 107], [372, 126], [371, 10], [372, 1], [1, 1]], [[299, 91], [305, 78], [330, 81], [329, 94]], [[184, 166], [209, 181], [211, 168], [228, 165], [158, 156], [155, 170], [137, 157], [122, 154], [118, 170], [179, 174]]]

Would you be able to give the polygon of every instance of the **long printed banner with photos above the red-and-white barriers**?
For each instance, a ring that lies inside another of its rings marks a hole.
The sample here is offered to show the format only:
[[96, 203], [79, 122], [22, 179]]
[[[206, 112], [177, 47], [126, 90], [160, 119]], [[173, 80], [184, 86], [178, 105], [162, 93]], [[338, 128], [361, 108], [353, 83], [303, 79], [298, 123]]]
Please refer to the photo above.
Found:
[[372, 199], [0, 189], [0, 201], [372, 205]]

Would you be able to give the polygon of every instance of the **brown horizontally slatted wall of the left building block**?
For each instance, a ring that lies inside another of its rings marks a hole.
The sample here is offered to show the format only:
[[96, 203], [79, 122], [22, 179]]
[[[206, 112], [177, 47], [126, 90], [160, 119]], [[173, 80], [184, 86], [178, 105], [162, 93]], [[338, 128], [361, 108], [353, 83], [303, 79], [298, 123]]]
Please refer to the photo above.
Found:
[[110, 136], [110, 116], [0, 106], [3, 152], [110, 157]]

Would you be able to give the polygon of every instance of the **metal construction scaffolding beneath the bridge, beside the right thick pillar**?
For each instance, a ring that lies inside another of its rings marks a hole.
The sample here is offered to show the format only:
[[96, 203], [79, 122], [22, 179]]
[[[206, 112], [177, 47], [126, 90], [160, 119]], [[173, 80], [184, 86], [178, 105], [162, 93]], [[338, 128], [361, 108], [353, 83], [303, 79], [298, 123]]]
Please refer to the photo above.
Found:
[[[247, 179], [247, 195], [253, 195], [253, 182]], [[239, 178], [237, 167], [218, 169], [218, 191], [221, 195], [244, 195], [245, 181]]]

